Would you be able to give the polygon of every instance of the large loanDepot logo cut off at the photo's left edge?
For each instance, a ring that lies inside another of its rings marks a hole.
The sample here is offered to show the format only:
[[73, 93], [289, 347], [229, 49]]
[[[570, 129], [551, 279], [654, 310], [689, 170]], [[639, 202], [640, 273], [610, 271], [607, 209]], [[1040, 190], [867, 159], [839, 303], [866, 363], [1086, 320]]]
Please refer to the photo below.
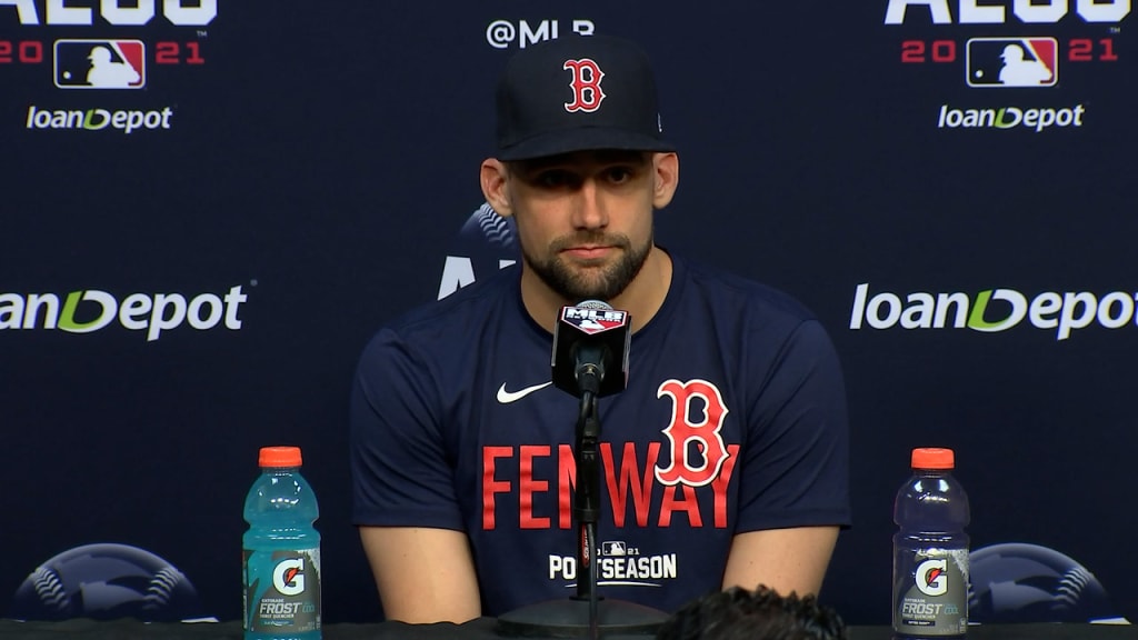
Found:
[[241, 328], [238, 314], [247, 300], [240, 286], [224, 295], [200, 294], [188, 298], [181, 294], [131, 294], [122, 301], [98, 289], [65, 296], [0, 294], [0, 330], [59, 329], [91, 334], [117, 320], [125, 329], [146, 331], [147, 342], [154, 342], [163, 331], [187, 323], [204, 331], [224, 322], [226, 329], [236, 331]]

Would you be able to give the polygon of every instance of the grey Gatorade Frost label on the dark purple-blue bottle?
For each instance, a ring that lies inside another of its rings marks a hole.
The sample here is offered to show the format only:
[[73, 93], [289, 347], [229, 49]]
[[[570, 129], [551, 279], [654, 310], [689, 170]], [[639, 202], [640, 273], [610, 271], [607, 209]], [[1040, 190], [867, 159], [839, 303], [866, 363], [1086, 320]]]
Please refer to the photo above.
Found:
[[893, 630], [918, 637], [964, 635], [968, 550], [899, 549], [893, 563]]

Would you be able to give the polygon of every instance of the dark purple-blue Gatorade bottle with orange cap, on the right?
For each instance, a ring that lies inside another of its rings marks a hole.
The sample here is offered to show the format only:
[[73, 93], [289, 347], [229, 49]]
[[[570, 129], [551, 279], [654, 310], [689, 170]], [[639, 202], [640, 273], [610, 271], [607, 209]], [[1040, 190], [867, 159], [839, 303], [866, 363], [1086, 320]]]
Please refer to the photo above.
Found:
[[968, 629], [968, 497], [951, 449], [914, 449], [893, 502], [893, 631], [963, 638]]

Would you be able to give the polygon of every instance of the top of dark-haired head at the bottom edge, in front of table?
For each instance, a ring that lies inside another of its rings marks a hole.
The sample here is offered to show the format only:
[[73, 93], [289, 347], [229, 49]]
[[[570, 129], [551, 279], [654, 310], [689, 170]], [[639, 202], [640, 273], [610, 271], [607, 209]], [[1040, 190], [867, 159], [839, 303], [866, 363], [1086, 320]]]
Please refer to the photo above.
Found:
[[674, 613], [657, 640], [848, 640], [846, 624], [815, 596], [780, 596], [759, 585], [733, 586], [698, 598]]

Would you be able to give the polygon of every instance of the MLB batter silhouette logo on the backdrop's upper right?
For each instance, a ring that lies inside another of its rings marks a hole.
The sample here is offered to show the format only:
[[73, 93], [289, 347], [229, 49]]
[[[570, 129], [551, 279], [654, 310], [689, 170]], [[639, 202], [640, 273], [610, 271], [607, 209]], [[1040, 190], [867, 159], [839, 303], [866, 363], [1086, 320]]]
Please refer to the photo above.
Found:
[[973, 38], [967, 42], [968, 87], [1055, 87], [1054, 38]]

